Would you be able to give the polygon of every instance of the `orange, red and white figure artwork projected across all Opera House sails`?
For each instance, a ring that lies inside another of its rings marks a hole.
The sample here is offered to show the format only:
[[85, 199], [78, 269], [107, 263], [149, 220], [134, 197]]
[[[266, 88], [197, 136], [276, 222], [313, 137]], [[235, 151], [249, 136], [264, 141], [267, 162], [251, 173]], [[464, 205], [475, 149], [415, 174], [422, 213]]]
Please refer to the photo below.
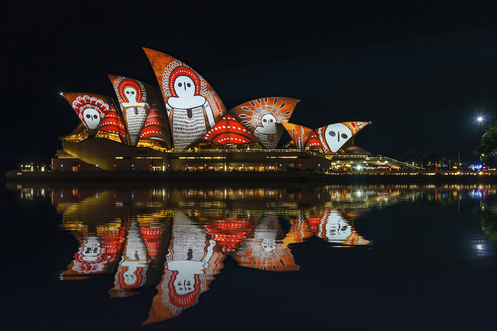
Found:
[[342, 122], [316, 130], [291, 124], [288, 120], [299, 100], [286, 97], [258, 98], [227, 111], [212, 86], [191, 67], [164, 53], [143, 50], [159, 89], [109, 75], [117, 100], [91, 93], [62, 93], [81, 121], [71, 135], [61, 137], [63, 142], [104, 138], [161, 152], [232, 149], [238, 148], [232, 145], [243, 144], [252, 144], [241, 146], [247, 151], [252, 147], [274, 150], [286, 130], [292, 140], [280, 148], [316, 148], [315, 152], [333, 155], [345, 153], [349, 147], [341, 150], [342, 146], [368, 124]]

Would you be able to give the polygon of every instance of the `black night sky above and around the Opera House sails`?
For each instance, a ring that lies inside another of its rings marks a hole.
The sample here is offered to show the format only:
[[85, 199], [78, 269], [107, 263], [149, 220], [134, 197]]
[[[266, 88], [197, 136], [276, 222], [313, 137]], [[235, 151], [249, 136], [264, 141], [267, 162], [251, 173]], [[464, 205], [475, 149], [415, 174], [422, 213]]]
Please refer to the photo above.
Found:
[[2, 164], [62, 148], [78, 117], [61, 92], [115, 97], [108, 74], [157, 87], [142, 47], [191, 66], [227, 109], [286, 96], [301, 100], [290, 123], [371, 121], [355, 143], [389, 157], [472, 152], [475, 118], [497, 110], [495, 0], [107, 3], [3, 5]]

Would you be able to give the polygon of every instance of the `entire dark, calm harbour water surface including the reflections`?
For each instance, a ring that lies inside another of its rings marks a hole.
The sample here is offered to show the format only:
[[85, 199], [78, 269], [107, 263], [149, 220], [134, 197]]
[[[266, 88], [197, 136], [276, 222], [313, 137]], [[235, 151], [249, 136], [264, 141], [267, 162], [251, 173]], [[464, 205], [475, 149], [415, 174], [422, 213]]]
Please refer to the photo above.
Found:
[[0, 190], [3, 325], [496, 326], [494, 186], [134, 185]]

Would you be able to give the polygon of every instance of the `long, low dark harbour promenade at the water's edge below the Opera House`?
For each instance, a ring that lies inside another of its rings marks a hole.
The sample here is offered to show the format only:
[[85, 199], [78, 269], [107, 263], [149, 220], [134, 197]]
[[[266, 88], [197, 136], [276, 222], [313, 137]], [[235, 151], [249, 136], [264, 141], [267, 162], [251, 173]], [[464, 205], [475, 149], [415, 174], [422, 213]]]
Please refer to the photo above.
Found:
[[7, 172], [9, 181], [297, 181], [345, 183], [497, 183], [497, 171], [354, 170], [354, 171], [22, 171]]

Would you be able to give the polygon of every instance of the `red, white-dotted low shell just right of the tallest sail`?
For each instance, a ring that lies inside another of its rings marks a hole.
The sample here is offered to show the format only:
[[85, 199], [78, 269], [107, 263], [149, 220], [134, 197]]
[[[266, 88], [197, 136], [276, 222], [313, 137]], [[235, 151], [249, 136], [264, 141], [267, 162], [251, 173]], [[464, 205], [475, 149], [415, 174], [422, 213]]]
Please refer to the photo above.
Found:
[[202, 139], [223, 145], [259, 142], [250, 131], [230, 115], [223, 116], [212, 129], [207, 131]]

